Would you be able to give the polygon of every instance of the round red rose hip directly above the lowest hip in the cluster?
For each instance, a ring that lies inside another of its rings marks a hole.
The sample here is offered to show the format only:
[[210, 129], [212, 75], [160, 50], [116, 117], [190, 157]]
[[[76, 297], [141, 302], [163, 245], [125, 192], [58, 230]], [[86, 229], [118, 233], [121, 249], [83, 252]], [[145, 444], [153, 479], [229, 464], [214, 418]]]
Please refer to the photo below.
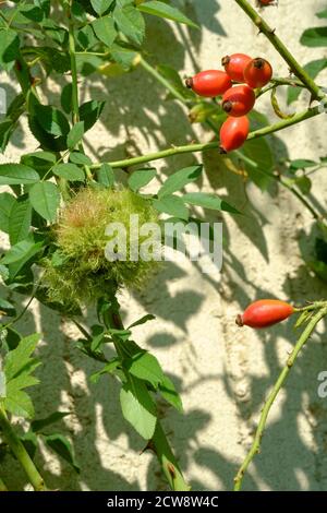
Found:
[[221, 106], [229, 116], [238, 118], [250, 112], [254, 104], [254, 91], [247, 85], [235, 85], [225, 93]]

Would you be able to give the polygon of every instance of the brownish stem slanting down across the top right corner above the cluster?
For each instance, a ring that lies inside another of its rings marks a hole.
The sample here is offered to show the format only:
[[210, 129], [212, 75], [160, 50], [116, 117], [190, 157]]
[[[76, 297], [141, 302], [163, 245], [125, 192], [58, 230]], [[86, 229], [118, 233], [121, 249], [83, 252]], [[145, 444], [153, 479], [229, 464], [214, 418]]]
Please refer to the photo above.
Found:
[[247, 16], [253, 21], [253, 23], [258, 27], [259, 32], [265, 34], [269, 39], [271, 45], [276, 48], [278, 53], [283, 58], [283, 60], [290, 67], [290, 70], [294, 75], [300, 79], [300, 81], [305, 85], [305, 87], [311, 92], [314, 99], [324, 96], [324, 93], [320, 92], [319, 87], [316, 85], [315, 81], [306, 73], [306, 71], [299, 64], [296, 59], [292, 56], [289, 49], [276, 35], [276, 31], [272, 29], [265, 20], [253, 9], [247, 0], [235, 0], [241, 9], [247, 14]]

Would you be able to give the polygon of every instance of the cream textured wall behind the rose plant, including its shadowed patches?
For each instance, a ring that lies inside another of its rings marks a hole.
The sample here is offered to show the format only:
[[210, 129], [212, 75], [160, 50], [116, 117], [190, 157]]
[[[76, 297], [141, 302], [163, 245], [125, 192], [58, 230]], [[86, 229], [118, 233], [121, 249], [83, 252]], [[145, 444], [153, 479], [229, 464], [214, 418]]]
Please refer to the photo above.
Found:
[[[232, 0], [181, 1], [202, 25], [190, 33], [156, 19], [147, 19], [149, 59], [175, 68], [183, 76], [216, 68], [226, 53], [244, 51], [266, 56], [276, 74], [288, 69], [264, 36]], [[266, 15], [291, 50], [306, 63], [324, 57], [323, 49], [299, 43], [304, 28], [322, 24], [314, 13], [323, 0], [279, 0]], [[320, 75], [326, 84], [327, 74]], [[13, 81], [3, 76], [13, 94]], [[58, 102], [62, 81], [49, 85], [51, 102]], [[142, 69], [123, 77], [82, 85], [82, 98], [104, 98], [101, 121], [87, 135], [87, 152], [96, 159], [112, 160], [211, 134], [190, 126], [185, 109], [166, 102], [166, 92]], [[281, 94], [282, 97], [282, 94]], [[281, 100], [282, 102], [282, 100]], [[307, 104], [302, 98], [296, 106]], [[266, 99], [257, 109], [277, 118]], [[326, 116], [280, 132], [274, 144], [281, 158], [326, 156]], [[128, 143], [126, 143], [128, 141]], [[37, 147], [22, 127], [5, 154], [16, 162], [23, 152]], [[271, 384], [295, 341], [291, 323], [267, 332], [239, 330], [235, 313], [249, 301], [265, 297], [290, 298], [295, 303], [324, 297], [326, 288], [304, 267], [299, 238], [310, 234], [312, 218], [287, 190], [272, 187], [261, 192], [244, 188], [242, 179], [227, 170], [216, 152], [205, 156], [180, 156], [156, 163], [161, 177], [195, 160], [205, 163], [201, 189], [215, 192], [243, 208], [242, 217], [223, 215], [226, 248], [219, 276], [209, 276], [184, 261], [167, 263], [142, 294], [122, 296], [123, 317], [133, 321], [149, 311], [156, 321], [138, 326], [135, 339], [158, 357], [181, 392], [185, 414], [162, 404], [166, 431], [194, 489], [230, 489], [233, 475], [253, 439], [254, 428]], [[324, 171], [313, 178], [312, 194], [326, 208]], [[317, 206], [318, 207], [318, 206]], [[209, 213], [211, 220], [219, 216]], [[5, 241], [3, 241], [5, 243]], [[16, 298], [20, 302], [21, 297]], [[38, 417], [55, 409], [71, 416], [61, 429], [74, 443], [82, 465], [80, 477], [44, 449], [39, 465], [55, 488], [71, 490], [166, 489], [157, 462], [140, 455], [144, 442], [122, 419], [119, 386], [104, 379], [92, 385], [88, 375], [97, 369], [75, 348], [75, 329], [43, 306], [35, 305], [21, 322], [24, 333], [43, 333], [39, 356], [41, 387], [33, 396]], [[320, 336], [319, 336], [320, 335]], [[250, 490], [322, 490], [327, 487], [327, 401], [317, 396], [317, 374], [327, 370], [327, 337], [322, 324], [296, 362], [286, 389], [269, 418], [262, 453], [251, 465], [244, 487]], [[64, 392], [62, 392], [64, 390]], [[9, 481], [24, 478], [11, 467]], [[10, 485], [10, 482], [9, 482]]]

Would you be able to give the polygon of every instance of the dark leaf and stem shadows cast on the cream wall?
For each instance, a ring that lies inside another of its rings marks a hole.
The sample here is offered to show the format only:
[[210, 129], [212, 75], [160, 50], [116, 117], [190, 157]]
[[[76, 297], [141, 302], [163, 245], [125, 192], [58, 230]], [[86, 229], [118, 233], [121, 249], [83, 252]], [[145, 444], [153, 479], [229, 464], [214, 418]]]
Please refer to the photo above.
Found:
[[[202, 0], [203, 9], [196, 10], [194, 2], [185, 1], [181, 3], [185, 4], [187, 14], [194, 20], [197, 19], [201, 25], [206, 26], [208, 31], [215, 34], [226, 36], [217, 20], [217, 13], [220, 9], [219, 2]], [[202, 33], [201, 31], [189, 32], [181, 28], [178, 28], [178, 31], [182, 43], [175, 41], [171, 27], [167, 23], [149, 16], [147, 19], [147, 51], [149, 55], [155, 56], [157, 62], [165, 62], [178, 71], [183, 69], [186, 53], [189, 53], [189, 57], [194, 62], [194, 70], [197, 71], [193, 56], [196, 56], [199, 49]], [[64, 79], [60, 80], [60, 86], [64, 82]], [[123, 93], [121, 94], [121, 92]], [[53, 95], [53, 92], [45, 90], [45, 94], [50, 98], [51, 103], [58, 102], [58, 95]], [[142, 70], [136, 70], [133, 74], [116, 80], [104, 80], [100, 84], [90, 85], [87, 94], [94, 99], [105, 98], [107, 100], [101, 117], [104, 129], [112, 135], [121, 134], [123, 131], [129, 142], [128, 146], [122, 144], [110, 148], [110, 151], [108, 151], [108, 146], [105, 144], [94, 152], [88, 146], [90, 154], [93, 153], [90, 156], [97, 159], [112, 160], [122, 158], [129, 155], [129, 152], [138, 154], [137, 138], [140, 133], [148, 142], [148, 134], [150, 133], [152, 142], [155, 142], [158, 147], [185, 143], [185, 141], [191, 141], [195, 138], [192, 126], [190, 126], [185, 116], [184, 108], [177, 102], [165, 102], [161, 104], [159, 102], [159, 98], [162, 97], [161, 86], [155, 83]], [[272, 140], [272, 143], [277, 146], [279, 154], [287, 157], [286, 148], [282, 147], [277, 138]], [[23, 139], [20, 131], [15, 134], [14, 144], [17, 147], [23, 147]], [[268, 269], [269, 254], [263, 229], [265, 224], [269, 223], [268, 213], [258, 212], [251, 205], [242, 179], [227, 169], [223, 158], [218, 156], [216, 152], [204, 155], [203, 159], [213, 191], [219, 190], [219, 196], [227, 199], [227, 201], [234, 205], [244, 205], [246, 215], [234, 217], [234, 222], [263, 254]], [[178, 164], [174, 165], [174, 163]], [[177, 166], [181, 168], [192, 163], [194, 163], [194, 157], [190, 155], [170, 159], [164, 174], [171, 174]], [[226, 193], [221, 194], [221, 188], [226, 190]], [[267, 193], [276, 198], [277, 190], [271, 187]], [[210, 220], [219, 220], [221, 218], [219, 214], [214, 214], [213, 212], [207, 214]], [[225, 236], [227, 242], [225, 267], [222, 283], [218, 285], [218, 294], [221, 295], [226, 302], [237, 300], [242, 310], [252, 299], [245, 293], [245, 286], [250, 285], [246, 278], [246, 270], [244, 270], [243, 263], [238, 255], [229, 251], [229, 232], [226, 224]], [[234, 282], [235, 273], [239, 276], [238, 285]], [[171, 297], [167, 283], [171, 279], [183, 277], [183, 274], [180, 267], [170, 263], [158, 275], [155, 288], [149, 288], [143, 295], [137, 294], [135, 297], [141, 305], [146, 306], [144, 298], [147, 298], [147, 295], [154, 295], [154, 301], [152, 302], [153, 313], [159, 319], [173, 322], [177, 327], [185, 331], [187, 321], [201, 309], [204, 296], [201, 293], [186, 289]], [[296, 278], [284, 283], [286, 295], [294, 302], [300, 299], [302, 300], [303, 296], [296, 296], [293, 291], [300, 290], [301, 287], [307, 291], [308, 278], [312, 287], [311, 299], [320, 298], [324, 291], [322, 284], [308, 277], [305, 269], [299, 271]], [[209, 275], [203, 275], [203, 279], [208, 281], [217, 288], [217, 284], [214, 284]], [[226, 293], [226, 290], [229, 293]], [[269, 290], [257, 288], [254, 285], [252, 290], [253, 297], [256, 298], [269, 296]], [[17, 297], [17, 302], [20, 302], [20, 299]], [[22, 307], [22, 305], [20, 306]], [[20, 309], [20, 306], [17, 305], [17, 309]], [[71, 438], [77, 461], [82, 466], [81, 476], [76, 476], [63, 462], [59, 463], [56, 472], [50, 472], [45, 456], [38, 455], [38, 465], [46, 469], [46, 480], [51, 488], [61, 490], [77, 490], [81, 481], [90, 490], [137, 490], [140, 487], [137, 467], [140, 466], [141, 468], [143, 465], [143, 456], [140, 453], [144, 449], [144, 441], [122, 418], [119, 407], [119, 385], [110, 378], [102, 379], [98, 385], [90, 385], [87, 382], [86, 392], [84, 387], [81, 389], [80, 385], [75, 385], [74, 375], [76, 373], [88, 377], [98, 369], [98, 366], [76, 350], [74, 341], [63, 334], [62, 321], [58, 315], [55, 315], [52, 311], [44, 306], [39, 308], [40, 326], [38, 326], [38, 330], [43, 332], [46, 343], [39, 347], [39, 358], [43, 361], [43, 366], [38, 371], [41, 391], [38, 387], [32, 390], [35, 405], [39, 408], [37, 417], [45, 417], [57, 409], [63, 409], [63, 402], [69, 402], [72, 415], [66, 417], [65, 421], [61, 421], [58, 425], [58, 431], [62, 431]], [[227, 336], [231, 336], [229, 327], [223, 327]], [[25, 334], [36, 331], [32, 314], [28, 314], [26, 319], [20, 322], [19, 330]], [[61, 335], [59, 336], [59, 334]], [[280, 369], [280, 361], [275, 345], [275, 341], [279, 336], [290, 341], [294, 339], [294, 333], [284, 325], [272, 327], [268, 334], [262, 334], [261, 341], [264, 346], [265, 361], [268, 370], [264, 377], [247, 375], [249, 393], [246, 401], [242, 401], [235, 394], [230, 369], [226, 369], [223, 378], [226, 392], [229, 394], [231, 402], [235, 402], [240, 420], [252, 430], [254, 429], [254, 421], [256, 422], [258, 418], [264, 397], [271, 383], [276, 380]], [[156, 348], [160, 347], [169, 349], [169, 347], [178, 343], [178, 339], [172, 334], [158, 332], [147, 343], [156, 351]], [[253, 357], [253, 355], [250, 356], [250, 358]], [[324, 451], [326, 452], [326, 439], [324, 438], [326, 429], [322, 426], [324, 421], [326, 422], [327, 414], [326, 409], [317, 401], [316, 377], [322, 370], [322, 361], [324, 360], [326, 361], [326, 343], [322, 344], [314, 338], [292, 371], [292, 375], [284, 390], [280, 417], [270, 423], [266, 431], [263, 442], [263, 455], [256, 456], [255, 462], [251, 466], [250, 475], [245, 480], [246, 489], [257, 489], [257, 479], [253, 476], [261, 476], [263, 482], [275, 490], [299, 489], [299, 473], [305, 475], [307, 489], [314, 490], [318, 487], [319, 473], [323, 473], [323, 460], [318, 454], [323, 454]], [[56, 382], [53, 382], [53, 367], [56, 368]], [[172, 374], [171, 379], [177, 384], [178, 390], [183, 392], [182, 377]], [[218, 377], [209, 375], [207, 379], [213, 380], [215, 383]], [[295, 380], [298, 383], [296, 389], [293, 386]], [[300, 391], [299, 383], [301, 383]], [[194, 383], [195, 386], [197, 386], [197, 383]], [[64, 396], [62, 395], [63, 390], [65, 391]], [[299, 411], [302, 410], [304, 401], [308, 405], [312, 415], [312, 425], [315, 426], [318, 422], [317, 428], [313, 430], [317, 454], [313, 454], [312, 450], [306, 446], [301, 433]], [[199, 442], [198, 440], [201, 431], [210, 422], [210, 413], [199, 406], [196, 409], [186, 411], [184, 416], [180, 416], [161, 403], [159, 406], [164, 426], [172, 441], [177, 455], [181, 458], [181, 466], [185, 475], [187, 476], [187, 468], [191, 462], [194, 461], [197, 466], [208, 469], [213, 475], [217, 476], [217, 479], [219, 479], [225, 489], [230, 489], [238, 465], [234, 461], [229, 461], [218, 450], [214, 450], [209, 444], [206, 446], [203, 441]], [[108, 439], [105, 452], [102, 445], [101, 450], [98, 445], [102, 441], [98, 440], [99, 431], [97, 422], [100, 421], [99, 417], [104, 426], [104, 437]], [[124, 463], [123, 448], [121, 448], [121, 461], [111, 462], [110, 448], [119, 446], [119, 436], [121, 432], [126, 433], [129, 448], [135, 456], [135, 472], [132, 481], [123, 477], [124, 465], [126, 465]], [[307, 462], [313, 460], [313, 465], [308, 465]], [[10, 469], [5, 466], [9, 470], [8, 476], [5, 476], [8, 484], [12, 487], [21, 487], [24, 484], [24, 476], [16, 468], [14, 470], [17, 472], [13, 472], [12, 460], [10, 462]], [[281, 463], [283, 467], [289, 469], [288, 482], [283, 482], [279, 476], [278, 468]], [[4, 465], [9, 465], [7, 457]], [[312, 466], [316, 468], [315, 475], [306, 472]], [[110, 470], [108, 467], [110, 467]], [[120, 472], [116, 472], [116, 468]], [[205, 481], [198, 480], [192, 482], [192, 485], [195, 490], [207, 489]], [[166, 489], [166, 482], [162, 480], [155, 458], [150, 461], [148, 466], [147, 489]]]

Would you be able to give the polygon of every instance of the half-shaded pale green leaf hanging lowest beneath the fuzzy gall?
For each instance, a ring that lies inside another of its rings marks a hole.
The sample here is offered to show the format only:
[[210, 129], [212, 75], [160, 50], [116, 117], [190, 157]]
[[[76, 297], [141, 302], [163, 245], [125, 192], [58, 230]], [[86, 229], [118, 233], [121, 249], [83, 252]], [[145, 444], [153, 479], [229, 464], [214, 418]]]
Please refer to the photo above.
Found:
[[120, 404], [124, 418], [141, 437], [150, 440], [156, 429], [157, 411], [144, 381], [130, 378], [120, 391]]

